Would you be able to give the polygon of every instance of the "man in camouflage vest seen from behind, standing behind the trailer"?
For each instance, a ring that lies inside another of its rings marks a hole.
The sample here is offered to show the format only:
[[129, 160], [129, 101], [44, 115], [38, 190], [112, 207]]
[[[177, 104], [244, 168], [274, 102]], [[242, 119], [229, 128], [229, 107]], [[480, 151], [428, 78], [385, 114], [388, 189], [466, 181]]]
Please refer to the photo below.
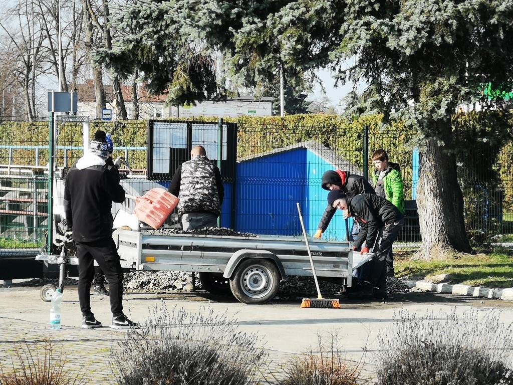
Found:
[[[218, 227], [224, 198], [219, 168], [207, 158], [203, 146], [191, 150], [191, 159], [174, 172], [168, 191], [180, 198], [178, 215], [184, 230]], [[187, 277], [184, 291], [194, 291], [194, 274]]]

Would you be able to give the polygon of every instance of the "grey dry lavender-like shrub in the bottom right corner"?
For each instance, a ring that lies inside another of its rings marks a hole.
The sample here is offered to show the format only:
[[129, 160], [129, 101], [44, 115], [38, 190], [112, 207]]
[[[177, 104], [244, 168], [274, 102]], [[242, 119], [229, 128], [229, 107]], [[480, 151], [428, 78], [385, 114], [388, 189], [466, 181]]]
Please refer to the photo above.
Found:
[[378, 337], [378, 385], [511, 385], [513, 328], [500, 312], [402, 311]]

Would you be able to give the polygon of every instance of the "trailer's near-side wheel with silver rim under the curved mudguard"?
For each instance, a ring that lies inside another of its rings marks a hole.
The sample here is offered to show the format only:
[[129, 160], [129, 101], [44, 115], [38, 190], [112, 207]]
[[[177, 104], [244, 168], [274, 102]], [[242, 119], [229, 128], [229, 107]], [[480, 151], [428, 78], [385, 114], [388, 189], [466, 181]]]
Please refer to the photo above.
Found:
[[245, 259], [230, 280], [231, 292], [247, 304], [269, 302], [280, 288], [280, 272], [269, 259]]

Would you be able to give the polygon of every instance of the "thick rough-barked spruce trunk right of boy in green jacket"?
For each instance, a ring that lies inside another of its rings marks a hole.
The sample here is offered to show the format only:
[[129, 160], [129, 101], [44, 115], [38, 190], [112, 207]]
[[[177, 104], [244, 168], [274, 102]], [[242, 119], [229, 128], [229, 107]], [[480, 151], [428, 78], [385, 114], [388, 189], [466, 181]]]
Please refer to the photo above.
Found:
[[442, 141], [427, 139], [419, 157], [417, 206], [422, 245], [418, 259], [445, 259], [472, 250], [465, 231], [456, 157], [451, 151], [450, 121], [438, 121], [433, 129], [441, 133]]

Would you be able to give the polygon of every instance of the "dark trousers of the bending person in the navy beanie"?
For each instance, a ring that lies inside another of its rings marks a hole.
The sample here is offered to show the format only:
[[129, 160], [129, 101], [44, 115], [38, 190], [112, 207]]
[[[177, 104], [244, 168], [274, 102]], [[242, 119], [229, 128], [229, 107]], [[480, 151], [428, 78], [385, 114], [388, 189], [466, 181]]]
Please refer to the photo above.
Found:
[[380, 229], [378, 240], [374, 244], [372, 253], [376, 254], [370, 261], [367, 281], [374, 287], [384, 288], [387, 277], [387, 257], [392, 253], [392, 244], [397, 239], [401, 228], [404, 225], [404, 219], [397, 222], [386, 223]]

